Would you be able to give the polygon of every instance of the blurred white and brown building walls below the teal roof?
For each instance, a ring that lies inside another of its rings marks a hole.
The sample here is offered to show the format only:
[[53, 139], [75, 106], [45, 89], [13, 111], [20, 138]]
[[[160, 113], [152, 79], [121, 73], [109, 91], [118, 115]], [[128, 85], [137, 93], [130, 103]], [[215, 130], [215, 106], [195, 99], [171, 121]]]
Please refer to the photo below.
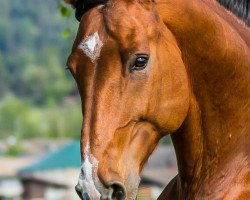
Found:
[[74, 190], [76, 169], [33, 172], [21, 177], [23, 199], [69, 200], [78, 199]]

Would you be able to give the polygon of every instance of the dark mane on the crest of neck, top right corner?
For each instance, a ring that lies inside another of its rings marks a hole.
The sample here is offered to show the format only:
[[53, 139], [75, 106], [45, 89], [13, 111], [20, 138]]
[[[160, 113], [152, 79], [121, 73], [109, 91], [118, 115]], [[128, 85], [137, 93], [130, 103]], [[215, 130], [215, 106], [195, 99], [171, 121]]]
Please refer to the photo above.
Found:
[[250, 0], [217, 0], [250, 26]]

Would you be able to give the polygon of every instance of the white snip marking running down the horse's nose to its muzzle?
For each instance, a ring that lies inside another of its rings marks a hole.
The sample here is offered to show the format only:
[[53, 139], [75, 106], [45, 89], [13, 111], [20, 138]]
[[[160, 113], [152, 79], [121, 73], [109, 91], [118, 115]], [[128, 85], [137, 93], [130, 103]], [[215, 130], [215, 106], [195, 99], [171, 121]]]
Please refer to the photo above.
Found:
[[77, 187], [87, 193], [90, 199], [100, 199], [101, 194], [96, 189], [95, 182], [99, 182], [97, 176], [98, 160], [90, 153], [89, 145], [85, 148], [85, 160], [81, 167], [81, 173]]

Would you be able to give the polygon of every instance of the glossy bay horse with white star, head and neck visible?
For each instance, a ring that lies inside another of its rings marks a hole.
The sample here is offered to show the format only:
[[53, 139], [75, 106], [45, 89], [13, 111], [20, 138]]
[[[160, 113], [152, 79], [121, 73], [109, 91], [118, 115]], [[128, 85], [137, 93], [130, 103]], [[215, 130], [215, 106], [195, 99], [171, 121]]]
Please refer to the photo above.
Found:
[[250, 199], [249, 27], [214, 0], [67, 2], [80, 21], [67, 63], [82, 102], [80, 198], [135, 199], [171, 134], [178, 175], [159, 199]]

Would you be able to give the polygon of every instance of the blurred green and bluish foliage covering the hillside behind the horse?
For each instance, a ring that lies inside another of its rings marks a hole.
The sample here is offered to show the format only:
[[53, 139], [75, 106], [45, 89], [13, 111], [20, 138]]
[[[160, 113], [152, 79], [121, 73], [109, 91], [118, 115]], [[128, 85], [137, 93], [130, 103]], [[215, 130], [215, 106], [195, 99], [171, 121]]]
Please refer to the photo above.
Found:
[[77, 26], [62, 0], [1, 2], [0, 138], [79, 137], [80, 102], [64, 70]]

